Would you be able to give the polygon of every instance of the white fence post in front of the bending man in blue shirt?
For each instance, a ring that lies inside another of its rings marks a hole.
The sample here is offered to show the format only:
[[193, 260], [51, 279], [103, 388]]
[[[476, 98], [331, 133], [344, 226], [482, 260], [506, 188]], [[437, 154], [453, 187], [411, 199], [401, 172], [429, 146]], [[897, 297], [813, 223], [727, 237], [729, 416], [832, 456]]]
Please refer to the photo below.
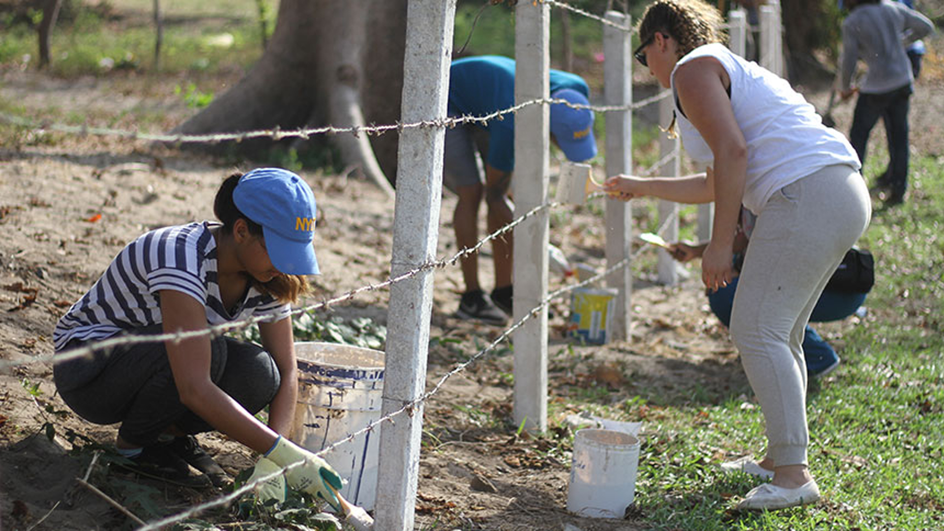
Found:
[[[514, 102], [548, 97], [550, 7], [519, 2], [514, 19]], [[550, 111], [530, 105], [514, 115], [515, 217], [548, 201]], [[507, 118], [506, 118], [507, 119]], [[531, 313], [548, 293], [548, 211], [514, 227], [514, 322]], [[548, 429], [548, 308], [512, 334], [514, 422], [529, 431]]]

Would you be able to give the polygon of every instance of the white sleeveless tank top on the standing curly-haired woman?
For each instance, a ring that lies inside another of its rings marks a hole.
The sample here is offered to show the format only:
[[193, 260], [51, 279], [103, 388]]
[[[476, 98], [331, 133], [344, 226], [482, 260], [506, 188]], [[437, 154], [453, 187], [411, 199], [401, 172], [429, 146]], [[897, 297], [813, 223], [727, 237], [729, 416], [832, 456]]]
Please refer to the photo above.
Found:
[[[699, 46], [679, 60], [672, 71], [672, 94], [676, 94], [675, 71], [700, 57], [715, 58], [731, 77], [734, 119], [748, 143], [748, 175], [742, 201], [752, 213], [760, 214], [777, 190], [821, 168], [833, 164], [862, 167], [846, 137], [824, 126], [816, 109], [786, 79], [738, 57], [723, 44]], [[685, 153], [695, 163], [711, 165], [715, 156], [678, 108], [678, 97], [675, 105]]]

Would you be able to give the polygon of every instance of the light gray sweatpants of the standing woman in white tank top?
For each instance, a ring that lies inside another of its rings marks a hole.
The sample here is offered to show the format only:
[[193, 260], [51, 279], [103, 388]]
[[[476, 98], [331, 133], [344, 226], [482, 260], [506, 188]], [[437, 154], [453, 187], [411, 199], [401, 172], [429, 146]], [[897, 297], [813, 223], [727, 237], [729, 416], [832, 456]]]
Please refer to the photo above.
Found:
[[770, 197], [750, 235], [731, 335], [761, 403], [774, 466], [807, 463], [803, 330], [870, 214], [862, 176], [827, 166]]

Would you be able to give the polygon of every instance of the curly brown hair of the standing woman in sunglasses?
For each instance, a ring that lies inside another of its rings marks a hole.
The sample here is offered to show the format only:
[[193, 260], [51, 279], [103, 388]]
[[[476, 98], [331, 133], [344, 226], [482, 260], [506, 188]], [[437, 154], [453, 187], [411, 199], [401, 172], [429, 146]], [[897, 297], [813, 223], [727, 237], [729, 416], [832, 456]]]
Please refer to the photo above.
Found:
[[649, 5], [636, 30], [645, 43], [657, 31], [679, 43], [679, 57], [710, 43], [724, 43], [723, 18], [714, 6], [701, 0], [656, 0]]

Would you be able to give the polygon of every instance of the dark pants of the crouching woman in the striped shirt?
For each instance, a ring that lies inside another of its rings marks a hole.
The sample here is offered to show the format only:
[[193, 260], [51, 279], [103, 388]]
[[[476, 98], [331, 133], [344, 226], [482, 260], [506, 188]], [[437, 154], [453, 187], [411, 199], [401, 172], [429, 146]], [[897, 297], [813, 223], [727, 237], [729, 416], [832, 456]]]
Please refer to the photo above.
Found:
[[[160, 325], [134, 333], [160, 334]], [[78, 346], [73, 341], [68, 348]], [[59, 396], [79, 417], [96, 424], [121, 422], [118, 435], [134, 445], [154, 444], [172, 425], [185, 434], [213, 429], [180, 403], [162, 341], [58, 363], [53, 377]], [[226, 336], [211, 339], [210, 378], [253, 415], [272, 402], [281, 383], [267, 351]]]

